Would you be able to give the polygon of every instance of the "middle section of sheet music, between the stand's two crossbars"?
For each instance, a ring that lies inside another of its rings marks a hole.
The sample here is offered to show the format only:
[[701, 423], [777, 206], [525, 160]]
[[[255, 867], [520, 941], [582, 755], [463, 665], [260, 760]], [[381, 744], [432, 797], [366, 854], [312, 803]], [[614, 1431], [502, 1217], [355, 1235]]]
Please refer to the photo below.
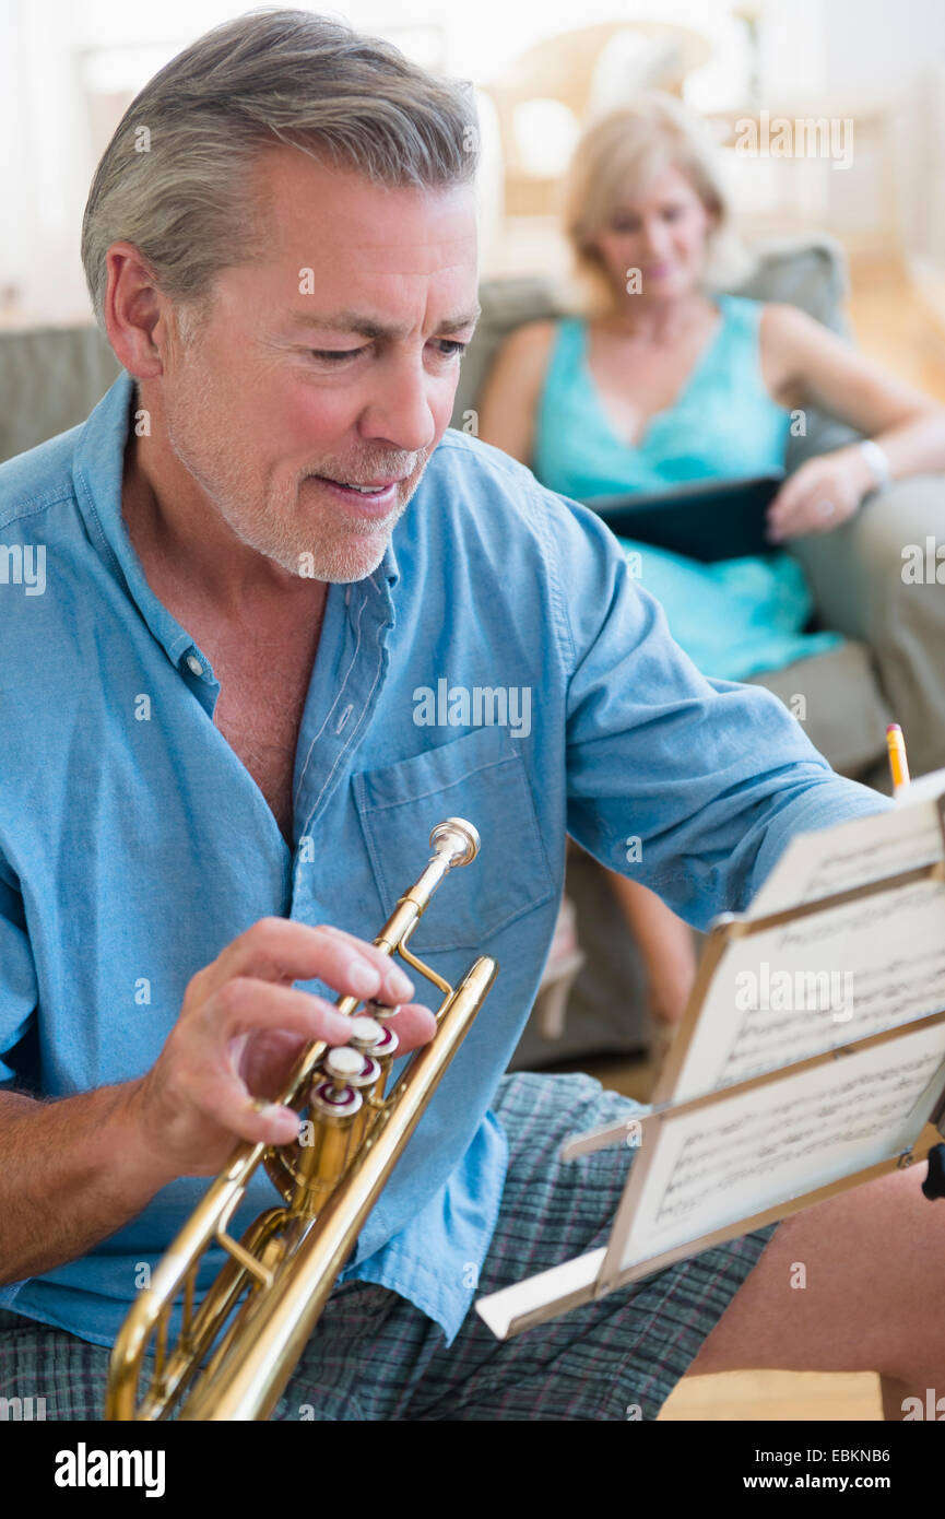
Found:
[[945, 1007], [945, 883], [729, 940], [673, 1101], [732, 1086]]

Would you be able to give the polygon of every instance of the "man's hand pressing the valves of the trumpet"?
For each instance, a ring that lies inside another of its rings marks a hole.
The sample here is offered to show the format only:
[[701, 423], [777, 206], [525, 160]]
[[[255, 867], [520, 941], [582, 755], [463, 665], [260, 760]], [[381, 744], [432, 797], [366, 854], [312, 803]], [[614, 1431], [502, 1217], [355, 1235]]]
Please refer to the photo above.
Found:
[[[292, 986], [308, 980], [390, 1006], [413, 995], [390, 957], [352, 934], [284, 917], [254, 924], [198, 971], [158, 1060], [131, 1083], [132, 1127], [167, 1180], [214, 1174], [237, 1138], [296, 1136], [290, 1107], [255, 1100], [278, 1094], [307, 1044], [345, 1044], [349, 1031], [331, 1003]], [[433, 1037], [436, 1021], [428, 1007], [409, 1004], [390, 1027], [406, 1053]]]

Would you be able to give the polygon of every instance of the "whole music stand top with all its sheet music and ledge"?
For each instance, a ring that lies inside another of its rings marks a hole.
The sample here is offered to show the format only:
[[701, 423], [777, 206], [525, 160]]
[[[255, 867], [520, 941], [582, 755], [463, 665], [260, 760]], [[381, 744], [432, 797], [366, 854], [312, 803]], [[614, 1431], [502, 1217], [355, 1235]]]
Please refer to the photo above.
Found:
[[[820, 1188], [855, 1185], [918, 1141], [945, 1088], [945, 1019], [910, 1028], [945, 1012], [945, 880], [881, 884], [779, 927], [752, 925], [939, 863], [942, 794], [945, 772], [915, 782], [909, 805], [796, 837], [746, 919], [731, 925], [694, 1027], [687, 1018], [681, 1031], [688, 1044], [672, 1100], [643, 1120], [643, 1150], [606, 1252], [620, 1261], [617, 1277], [644, 1276], [649, 1262], [673, 1252], [694, 1255], [708, 1249], [706, 1236], [746, 1232], [741, 1223], [778, 1217]], [[875, 1048], [842, 1048], [893, 1028]], [[796, 1069], [813, 1056], [828, 1059]], [[766, 1074], [770, 1080], [747, 1092], [678, 1110]], [[603, 1255], [476, 1306], [500, 1338], [517, 1334], [565, 1311], [559, 1303], [589, 1302]], [[609, 1265], [606, 1281], [615, 1282]]]

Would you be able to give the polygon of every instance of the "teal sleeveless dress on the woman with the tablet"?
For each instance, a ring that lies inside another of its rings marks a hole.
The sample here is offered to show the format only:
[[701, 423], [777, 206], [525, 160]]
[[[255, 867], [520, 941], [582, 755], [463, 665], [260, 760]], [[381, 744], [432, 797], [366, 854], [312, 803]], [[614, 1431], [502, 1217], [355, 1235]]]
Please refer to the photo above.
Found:
[[[716, 296], [722, 322], [676, 401], [638, 444], [611, 427], [586, 363], [586, 322], [556, 324], [541, 393], [532, 469], [559, 495], [594, 498], [732, 480], [784, 466], [790, 415], [761, 378], [763, 305]], [[782, 550], [700, 564], [620, 539], [640, 583], [662, 603], [670, 632], [706, 676], [746, 681], [833, 649], [839, 633], [805, 633], [813, 603], [804, 570]]]

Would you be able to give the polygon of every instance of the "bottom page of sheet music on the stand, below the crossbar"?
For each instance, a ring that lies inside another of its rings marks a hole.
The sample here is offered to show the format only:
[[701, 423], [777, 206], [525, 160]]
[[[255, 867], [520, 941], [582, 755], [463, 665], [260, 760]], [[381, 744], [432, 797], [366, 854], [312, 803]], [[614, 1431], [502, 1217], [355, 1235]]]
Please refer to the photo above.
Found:
[[943, 1082], [937, 1024], [650, 1121], [643, 1145], [655, 1151], [621, 1268], [901, 1153]]

